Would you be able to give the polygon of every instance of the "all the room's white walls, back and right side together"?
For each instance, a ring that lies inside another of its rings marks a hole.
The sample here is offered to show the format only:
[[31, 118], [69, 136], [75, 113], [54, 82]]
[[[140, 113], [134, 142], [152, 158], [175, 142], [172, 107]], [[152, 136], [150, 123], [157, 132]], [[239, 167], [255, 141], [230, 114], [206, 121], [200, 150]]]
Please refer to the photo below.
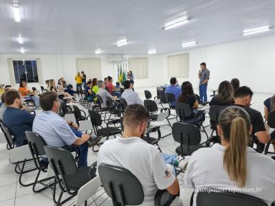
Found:
[[[208, 89], [217, 89], [219, 82], [239, 78], [241, 85], [247, 85], [255, 92], [274, 93], [273, 81], [275, 75], [275, 36], [254, 38], [248, 41], [239, 41], [201, 47], [182, 52], [148, 57], [148, 79], [136, 79], [135, 87], [154, 87], [169, 82], [167, 78], [167, 56], [189, 53], [189, 78], [179, 79], [192, 82], [197, 88], [197, 73], [199, 64], [206, 62], [210, 69], [210, 82]], [[8, 72], [8, 58], [41, 58], [43, 80], [61, 76], [74, 85], [76, 75], [76, 58], [101, 58], [102, 78], [113, 76], [117, 79], [117, 65], [109, 63], [106, 55], [31, 55], [31, 54], [0, 54], [0, 84], [10, 84]], [[87, 77], [92, 78], [92, 77]], [[39, 84], [34, 84], [39, 88]], [[30, 85], [32, 87], [32, 85]]]

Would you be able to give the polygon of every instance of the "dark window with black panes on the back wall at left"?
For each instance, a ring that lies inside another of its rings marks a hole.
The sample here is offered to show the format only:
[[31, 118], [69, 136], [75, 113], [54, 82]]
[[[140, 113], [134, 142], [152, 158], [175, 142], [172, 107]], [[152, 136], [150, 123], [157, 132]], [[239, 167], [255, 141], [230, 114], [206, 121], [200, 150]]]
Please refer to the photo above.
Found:
[[16, 83], [39, 82], [36, 60], [12, 60]]

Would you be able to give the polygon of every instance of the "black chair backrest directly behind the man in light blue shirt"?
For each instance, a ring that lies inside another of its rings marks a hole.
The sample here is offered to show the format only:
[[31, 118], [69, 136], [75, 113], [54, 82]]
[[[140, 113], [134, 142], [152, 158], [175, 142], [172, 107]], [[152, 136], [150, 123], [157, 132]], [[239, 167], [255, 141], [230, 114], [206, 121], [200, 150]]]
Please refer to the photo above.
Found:
[[37, 157], [41, 155], [46, 155], [44, 147], [47, 144], [45, 143], [43, 137], [31, 131], [25, 131], [25, 135], [28, 139], [30, 150], [34, 153], [34, 155], [36, 155]]

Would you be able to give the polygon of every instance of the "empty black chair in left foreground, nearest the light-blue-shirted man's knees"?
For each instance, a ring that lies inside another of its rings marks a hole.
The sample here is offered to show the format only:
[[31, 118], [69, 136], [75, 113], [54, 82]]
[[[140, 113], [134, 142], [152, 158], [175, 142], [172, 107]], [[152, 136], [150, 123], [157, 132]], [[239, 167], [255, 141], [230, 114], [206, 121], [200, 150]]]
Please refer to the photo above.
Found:
[[[54, 203], [63, 205], [76, 196], [80, 187], [94, 178], [95, 168], [92, 170], [89, 167], [77, 168], [72, 153], [64, 148], [45, 146], [44, 149], [56, 177], [54, 179]], [[56, 201], [56, 184], [61, 189], [58, 201]], [[70, 196], [61, 201], [64, 192], [67, 192]], [[87, 205], [87, 202], [85, 202], [85, 205]]]

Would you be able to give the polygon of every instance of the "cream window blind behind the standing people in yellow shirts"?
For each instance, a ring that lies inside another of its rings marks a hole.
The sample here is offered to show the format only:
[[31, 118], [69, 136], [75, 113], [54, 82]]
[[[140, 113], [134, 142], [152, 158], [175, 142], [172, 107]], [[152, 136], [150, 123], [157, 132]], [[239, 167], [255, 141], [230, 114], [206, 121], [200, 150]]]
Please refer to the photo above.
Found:
[[89, 78], [98, 78], [101, 79], [101, 59], [100, 58], [77, 58], [76, 67], [79, 72], [84, 71]]

